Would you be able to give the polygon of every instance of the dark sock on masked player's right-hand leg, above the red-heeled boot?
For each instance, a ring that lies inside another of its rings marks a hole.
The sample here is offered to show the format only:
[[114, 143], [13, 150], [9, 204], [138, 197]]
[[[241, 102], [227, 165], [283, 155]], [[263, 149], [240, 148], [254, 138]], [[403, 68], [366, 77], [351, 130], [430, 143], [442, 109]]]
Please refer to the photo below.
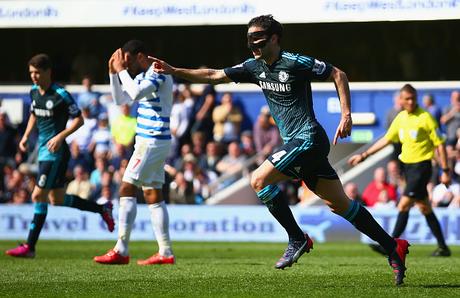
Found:
[[396, 241], [375, 221], [366, 208], [356, 201], [351, 201], [350, 207], [343, 218], [351, 222], [356, 229], [379, 243], [388, 254], [396, 248]]

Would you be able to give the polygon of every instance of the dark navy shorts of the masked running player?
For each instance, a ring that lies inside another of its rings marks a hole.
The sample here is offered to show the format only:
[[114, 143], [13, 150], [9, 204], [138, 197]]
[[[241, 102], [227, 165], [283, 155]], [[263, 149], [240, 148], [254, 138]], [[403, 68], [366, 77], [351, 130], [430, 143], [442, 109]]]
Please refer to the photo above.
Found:
[[315, 190], [318, 178], [339, 179], [327, 158], [330, 145], [329, 139], [325, 139], [322, 142], [293, 139], [267, 159], [284, 175], [301, 179], [309, 189]]

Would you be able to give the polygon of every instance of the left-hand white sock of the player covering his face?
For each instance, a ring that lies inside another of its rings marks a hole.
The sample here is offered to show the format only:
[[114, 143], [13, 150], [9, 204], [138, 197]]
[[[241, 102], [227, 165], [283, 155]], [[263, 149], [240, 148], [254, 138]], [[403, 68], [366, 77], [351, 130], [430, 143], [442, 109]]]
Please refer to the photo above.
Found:
[[115, 250], [122, 256], [127, 256], [129, 237], [136, 219], [137, 206], [135, 197], [121, 197], [118, 210], [118, 241]]

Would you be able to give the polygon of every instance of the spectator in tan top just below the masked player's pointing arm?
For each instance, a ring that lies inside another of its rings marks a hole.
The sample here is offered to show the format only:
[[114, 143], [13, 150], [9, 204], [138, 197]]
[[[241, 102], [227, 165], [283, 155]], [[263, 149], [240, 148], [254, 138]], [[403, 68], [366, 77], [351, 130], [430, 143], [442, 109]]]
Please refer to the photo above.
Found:
[[238, 139], [243, 114], [233, 104], [233, 97], [230, 93], [226, 92], [222, 95], [221, 104], [212, 113], [212, 120], [214, 121], [215, 141], [229, 143]]

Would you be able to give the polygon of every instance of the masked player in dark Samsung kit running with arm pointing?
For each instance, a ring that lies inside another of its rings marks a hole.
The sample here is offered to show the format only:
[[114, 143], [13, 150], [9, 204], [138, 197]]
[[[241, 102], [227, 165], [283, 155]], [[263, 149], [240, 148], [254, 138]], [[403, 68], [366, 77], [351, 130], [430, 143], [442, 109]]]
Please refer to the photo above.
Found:
[[350, 91], [346, 74], [329, 63], [281, 49], [283, 28], [271, 15], [253, 18], [247, 41], [254, 58], [225, 69], [183, 69], [151, 57], [158, 73], [172, 74], [197, 83], [254, 83], [265, 95], [284, 145], [252, 174], [251, 185], [271, 214], [285, 228], [289, 244], [275, 268], [284, 269], [313, 248], [313, 242], [296, 223], [277, 183], [302, 179], [332, 212], [344, 217], [359, 231], [380, 243], [389, 254], [395, 283], [403, 283], [409, 243], [390, 237], [358, 202], [350, 200], [329, 164], [329, 139], [315, 118], [312, 80], [333, 81], [341, 102], [342, 117], [333, 143], [351, 134]]

